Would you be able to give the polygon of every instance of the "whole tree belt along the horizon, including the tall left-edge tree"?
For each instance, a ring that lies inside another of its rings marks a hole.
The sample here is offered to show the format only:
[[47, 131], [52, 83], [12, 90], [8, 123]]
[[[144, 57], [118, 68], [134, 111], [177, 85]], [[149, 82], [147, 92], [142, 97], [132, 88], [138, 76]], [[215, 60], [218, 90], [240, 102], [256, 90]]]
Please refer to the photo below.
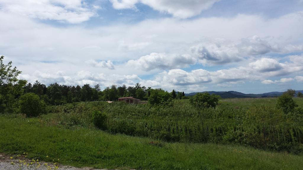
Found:
[[[64, 103], [73, 103], [80, 101], [116, 101], [119, 97], [132, 96], [140, 100], [148, 100], [150, 98], [152, 103], [163, 103], [164, 100], [182, 99], [186, 98], [184, 92], [171, 93], [162, 89], [152, 89], [151, 87], [141, 86], [136, 83], [135, 86], [127, 87], [125, 84], [117, 87], [112, 85], [106, 87], [103, 91], [99, 84], [91, 87], [89, 84], [83, 86], [66, 86], [58, 83], [46, 86], [38, 80], [32, 84], [27, 83], [26, 80], [18, 79], [22, 73], [16, 67], [12, 66], [12, 61], [8, 64], [3, 63], [4, 56], [0, 57], [0, 113], [13, 112], [13, 108], [18, 103], [20, 96], [33, 93], [38, 95], [46, 104], [60, 105]], [[155, 94], [153, 94], [155, 93]], [[158, 95], [158, 96], [157, 96]], [[29, 97], [29, 96], [28, 96]], [[32, 96], [34, 97], [34, 96]], [[26, 98], [26, 97], [25, 97]]]

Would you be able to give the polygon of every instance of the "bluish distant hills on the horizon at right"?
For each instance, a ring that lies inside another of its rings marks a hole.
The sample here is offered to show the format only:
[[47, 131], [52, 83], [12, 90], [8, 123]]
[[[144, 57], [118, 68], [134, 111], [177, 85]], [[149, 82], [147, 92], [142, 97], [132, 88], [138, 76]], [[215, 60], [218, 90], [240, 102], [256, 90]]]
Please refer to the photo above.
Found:
[[[185, 93], [185, 96], [194, 96], [197, 93], [206, 93], [216, 94], [221, 96], [223, 99], [226, 98], [261, 98], [261, 97], [278, 97], [281, 96], [284, 92], [269, 92], [262, 94], [245, 94], [237, 91], [204, 91], [204, 92], [193, 92], [193, 93]], [[296, 90], [295, 96], [298, 92], [303, 93], [303, 90]]]

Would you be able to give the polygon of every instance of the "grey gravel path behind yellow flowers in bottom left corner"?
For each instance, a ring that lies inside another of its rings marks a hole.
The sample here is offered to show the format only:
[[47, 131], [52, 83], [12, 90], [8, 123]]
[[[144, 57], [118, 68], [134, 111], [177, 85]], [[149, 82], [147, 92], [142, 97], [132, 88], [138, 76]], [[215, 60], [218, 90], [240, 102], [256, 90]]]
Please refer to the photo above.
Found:
[[[11, 164], [11, 162], [17, 163], [18, 160], [16, 159], [9, 159], [7, 156], [0, 155], [0, 170], [17, 170], [14, 168], [14, 165]], [[26, 163], [30, 162], [30, 160], [25, 160]], [[38, 168], [38, 170], [47, 170], [47, 166], [44, 166], [47, 162], [40, 162], [41, 166]], [[18, 165], [15, 165], [17, 167]], [[48, 163], [48, 166], [52, 168], [52, 170], [55, 169], [55, 165], [52, 163]], [[23, 169], [23, 168], [22, 168]], [[24, 170], [34, 170], [32, 169], [27, 169], [26, 165], [24, 166]], [[95, 169], [95, 168], [88, 168], [88, 167], [83, 167], [83, 168], [76, 168], [73, 166], [63, 166], [63, 165], [58, 165], [58, 170], [106, 170], [106, 169]]]

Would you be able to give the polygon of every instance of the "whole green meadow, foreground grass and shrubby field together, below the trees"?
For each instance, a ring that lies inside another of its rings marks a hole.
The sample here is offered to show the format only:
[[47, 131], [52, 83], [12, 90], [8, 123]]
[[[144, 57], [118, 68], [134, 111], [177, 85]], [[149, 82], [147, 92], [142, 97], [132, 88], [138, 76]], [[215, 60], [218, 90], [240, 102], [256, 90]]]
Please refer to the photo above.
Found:
[[[302, 98], [294, 100], [302, 106]], [[302, 115], [284, 114], [276, 102], [225, 99], [208, 109], [188, 100], [48, 106], [37, 118], [1, 115], [0, 153], [109, 169], [301, 169]], [[106, 116], [103, 129], [94, 112]]]

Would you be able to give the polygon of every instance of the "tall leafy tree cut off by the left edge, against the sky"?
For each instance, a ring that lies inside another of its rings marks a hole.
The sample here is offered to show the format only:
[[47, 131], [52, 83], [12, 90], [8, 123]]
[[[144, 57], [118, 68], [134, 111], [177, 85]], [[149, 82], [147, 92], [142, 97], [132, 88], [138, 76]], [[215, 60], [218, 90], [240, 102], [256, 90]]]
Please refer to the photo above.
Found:
[[15, 99], [23, 93], [22, 87], [26, 85], [26, 80], [19, 80], [21, 71], [17, 67], [12, 67], [12, 61], [7, 65], [3, 64], [4, 56], [0, 57], [0, 113], [12, 112]]

